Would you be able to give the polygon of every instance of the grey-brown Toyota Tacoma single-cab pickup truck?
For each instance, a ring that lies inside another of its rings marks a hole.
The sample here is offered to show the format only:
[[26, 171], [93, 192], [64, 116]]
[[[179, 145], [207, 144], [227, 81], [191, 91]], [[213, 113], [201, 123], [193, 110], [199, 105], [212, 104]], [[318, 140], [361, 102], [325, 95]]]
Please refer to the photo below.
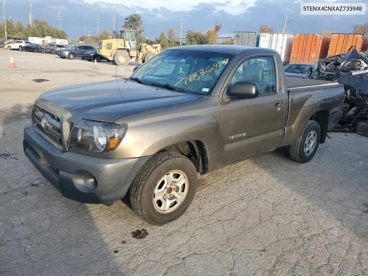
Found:
[[191, 204], [197, 173], [285, 146], [311, 160], [344, 96], [338, 83], [286, 78], [271, 49], [173, 47], [127, 79], [40, 95], [24, 152], [64, 197], [111, 206], [126, 195], [162, 225]]

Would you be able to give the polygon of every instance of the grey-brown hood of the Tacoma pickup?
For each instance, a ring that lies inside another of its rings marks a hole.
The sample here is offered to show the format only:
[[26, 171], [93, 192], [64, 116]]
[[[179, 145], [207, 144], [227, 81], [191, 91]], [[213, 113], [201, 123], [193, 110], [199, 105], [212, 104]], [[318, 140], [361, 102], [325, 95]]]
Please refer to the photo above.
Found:
[[40, 97], [68, 110], [71, 121], [85, 118], [104, 122], [201, 98], [123, 79], [57, 88]]

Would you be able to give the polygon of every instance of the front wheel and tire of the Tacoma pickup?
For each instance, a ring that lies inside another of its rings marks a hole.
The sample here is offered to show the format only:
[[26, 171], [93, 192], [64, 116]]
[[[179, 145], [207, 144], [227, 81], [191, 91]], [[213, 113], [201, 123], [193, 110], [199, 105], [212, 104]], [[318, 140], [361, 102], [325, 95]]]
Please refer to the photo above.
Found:
[[[178, 179], [181, 180], [176, 182], [176, 176], [180, 175], [181, 177]], [[170, 183], [163, 180], [163, 178], [170, 176]], [[183, 182], [183, 180], [185, 180], [184, 185], [176, 185]], [[197, 181], [197, 170], [191, 160], [184, 155], [169, 151], [157, 153], [139, 170], [130, 187], [131, 206], [142, 219], [150, 224], [163, 225], [169, 223], [183, 215], [187, 210], [197, 190]], [[173, 187], [176, 188], [173, 189]], [[162, 195], [159, 196], [156, 193], [158, 199], [154, 201], [156, 189], [162, 190]], [[179, 193], [183, 195], [180, 202], [178, 201]], [[169, 205], [164, 205], [162, 201], [164, 201], [164, 198], [169, 200], [169, 196], [171, 204], [168, 201]], [[165, 209], [166, 207], [169, 208], [166, 211], [157, 209]]]

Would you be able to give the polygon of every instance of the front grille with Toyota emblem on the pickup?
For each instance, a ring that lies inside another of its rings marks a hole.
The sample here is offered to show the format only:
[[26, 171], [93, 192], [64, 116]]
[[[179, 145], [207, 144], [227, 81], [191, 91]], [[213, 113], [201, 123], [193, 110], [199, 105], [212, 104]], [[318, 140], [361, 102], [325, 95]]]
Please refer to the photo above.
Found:
[[56, 148], [63, 149], [60, 118], [35, 105], [32, 110], [32, 124], [33, 128], [46, 140]]

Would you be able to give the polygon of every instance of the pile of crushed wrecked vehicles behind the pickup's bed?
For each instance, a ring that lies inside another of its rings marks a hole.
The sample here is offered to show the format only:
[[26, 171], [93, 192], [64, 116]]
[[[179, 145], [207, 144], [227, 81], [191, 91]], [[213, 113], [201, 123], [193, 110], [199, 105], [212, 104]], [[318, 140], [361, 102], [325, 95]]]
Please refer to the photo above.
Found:
[[355, 132], [368, 137], [368, 52], [352, 50], [318, 61], [307, 78], [344, 85], [343, 116], [330, 131]]

